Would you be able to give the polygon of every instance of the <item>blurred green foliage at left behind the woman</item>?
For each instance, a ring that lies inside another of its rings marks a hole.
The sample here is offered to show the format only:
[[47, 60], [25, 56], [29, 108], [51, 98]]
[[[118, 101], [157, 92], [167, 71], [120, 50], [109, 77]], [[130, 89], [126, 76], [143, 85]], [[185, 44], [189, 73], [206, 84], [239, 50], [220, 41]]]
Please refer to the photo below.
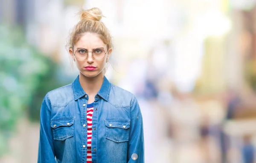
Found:
[[0, 26], [0, 157], [19, 118], [39, 121], [44, 96], [63, 84], [57, 79], [58, 67], [26, 43], [21, 28]]

